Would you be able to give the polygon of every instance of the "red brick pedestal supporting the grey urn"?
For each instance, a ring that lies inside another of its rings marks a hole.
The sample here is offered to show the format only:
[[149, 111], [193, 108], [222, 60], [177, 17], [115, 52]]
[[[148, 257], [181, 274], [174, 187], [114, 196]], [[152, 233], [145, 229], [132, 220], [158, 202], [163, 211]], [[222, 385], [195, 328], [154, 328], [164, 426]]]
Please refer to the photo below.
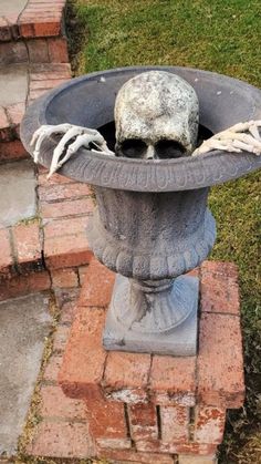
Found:
[[103, 348], [114, 275], [96, 260], [88, 266], [60, 384], [67, 396], [85, 403], [83, 436], [88, 431], [93, 439], [93, 457], [217, 462], [226, 410], [241, 408], [244, 399], [238, 274], [234, 265], [206, 261], [198, 275], [197, 354], [170, 357]]

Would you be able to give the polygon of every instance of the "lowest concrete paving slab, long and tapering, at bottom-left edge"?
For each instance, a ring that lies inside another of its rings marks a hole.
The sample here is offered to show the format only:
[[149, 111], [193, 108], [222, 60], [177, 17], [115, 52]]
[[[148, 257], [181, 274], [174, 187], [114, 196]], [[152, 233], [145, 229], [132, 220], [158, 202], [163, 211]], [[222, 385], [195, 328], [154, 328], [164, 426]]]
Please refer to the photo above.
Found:
[[0, 456], [15, 453], [50, 331], [49, 298], [0, 303]]

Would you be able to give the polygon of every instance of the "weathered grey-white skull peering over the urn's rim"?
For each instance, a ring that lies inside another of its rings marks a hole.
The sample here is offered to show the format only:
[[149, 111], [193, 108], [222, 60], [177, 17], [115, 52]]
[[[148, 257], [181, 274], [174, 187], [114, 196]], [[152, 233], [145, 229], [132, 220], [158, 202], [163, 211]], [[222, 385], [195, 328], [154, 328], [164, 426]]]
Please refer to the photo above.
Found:
[[178, 75], [149, 71], [127, 81], [115, 102], [117, 156], [143, 159], [190, 155], [198, 136], [198, 97]]

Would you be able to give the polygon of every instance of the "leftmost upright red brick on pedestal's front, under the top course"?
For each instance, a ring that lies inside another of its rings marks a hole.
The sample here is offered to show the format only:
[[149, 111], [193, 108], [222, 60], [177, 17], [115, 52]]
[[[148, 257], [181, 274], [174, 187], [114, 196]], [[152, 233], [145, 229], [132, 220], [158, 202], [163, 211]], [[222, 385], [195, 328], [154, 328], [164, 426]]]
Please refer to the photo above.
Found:
[[124, 404], [104, 399], [101, 392], [85, 401], [90, 433], [95, 439], [117, 440], [119, 447], [126, 445], [127, 430], [125, 423]]

